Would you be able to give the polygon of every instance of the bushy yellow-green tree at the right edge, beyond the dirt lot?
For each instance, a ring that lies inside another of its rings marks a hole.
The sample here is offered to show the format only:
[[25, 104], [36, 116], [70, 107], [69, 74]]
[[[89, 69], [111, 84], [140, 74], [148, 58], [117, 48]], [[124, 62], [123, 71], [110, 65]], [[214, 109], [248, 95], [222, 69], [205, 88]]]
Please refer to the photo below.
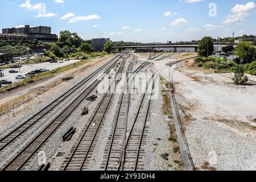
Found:
[[241, 41], [237, 44], [235, 54], [243, 60], [243, 63], [251, 63], [256, 59], [256, 48], [249, 42]]

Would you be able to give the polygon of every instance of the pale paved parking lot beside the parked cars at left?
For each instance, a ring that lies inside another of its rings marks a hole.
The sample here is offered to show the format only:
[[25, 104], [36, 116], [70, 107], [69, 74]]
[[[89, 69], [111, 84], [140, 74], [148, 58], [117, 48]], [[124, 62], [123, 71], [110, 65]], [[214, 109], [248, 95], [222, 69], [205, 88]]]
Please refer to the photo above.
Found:
[[16, 80], [16, 76], [18, 75], [26, 75], [28, 72], [31, 71], [35, 71], [36, 69], [49, 69], [49, 71], [56, 69], [56, 68], [60, 68], [60, 67], [64, 67], [65, 65], [69, 65], [69, 64], [73, 64], [73, 63], [77, 63], [80, 60], [69, 60], [69, 61], [63, 61], [63, 63], [40, 63], [40, 64], [31, 64], [31, 65], [23, 65], [20, 68], [20, 72], [18, 73], [9, 73], [10, 70], [15, 70], [15, 71], [19, 71], [19, 68], [9, 68], [9, 69], [4, 69], [4, 74], [5, 76], [0, 77], [0, 80], [10, 80], [13, 82], [16, 81], [20, 81], [20, 80]]

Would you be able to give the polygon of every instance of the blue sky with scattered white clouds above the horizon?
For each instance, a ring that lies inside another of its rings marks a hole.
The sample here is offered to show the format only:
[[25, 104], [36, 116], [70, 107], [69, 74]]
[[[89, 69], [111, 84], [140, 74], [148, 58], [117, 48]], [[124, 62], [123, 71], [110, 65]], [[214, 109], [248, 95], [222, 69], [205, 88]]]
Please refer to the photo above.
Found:
[[0, 0], [0, 6], [1, 28], [30, 23], [83, 39], [147, 43], [256, 34], [251, 0]]

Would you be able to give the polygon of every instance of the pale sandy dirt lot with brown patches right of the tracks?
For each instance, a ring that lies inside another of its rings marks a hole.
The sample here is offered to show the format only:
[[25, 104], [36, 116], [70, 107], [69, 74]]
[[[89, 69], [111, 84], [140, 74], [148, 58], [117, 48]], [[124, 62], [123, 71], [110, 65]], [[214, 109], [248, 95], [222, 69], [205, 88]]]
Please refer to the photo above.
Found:
[[197, 169], [256, 170], [256, 77], [233, 84], [232, 73], [185, 63], [174, 73], [185, 135]]

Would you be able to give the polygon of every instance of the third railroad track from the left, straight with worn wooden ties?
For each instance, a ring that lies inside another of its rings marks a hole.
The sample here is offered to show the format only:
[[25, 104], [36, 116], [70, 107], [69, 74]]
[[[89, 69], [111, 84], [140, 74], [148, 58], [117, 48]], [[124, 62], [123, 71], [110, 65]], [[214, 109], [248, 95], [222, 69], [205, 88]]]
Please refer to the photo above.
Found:
[[[127, 57], [128, 58], [128, 57]], [[126, 59], [127, 59], [126, 58]], [[125, 66], [125, 60], [122, 61], [118, 68], [118, 73], [123, 72]], [[118, 84], [118, 80], [114, 80], [112, 83]], [[111, 85], [109, 86], [109, 89]], [[109, 106], [112, 102], [114, 93], [105, 93], [100, 104], [98, 104], [94, 114], [90, 118], [88, 126], [81, 131], [75, 146], [71, 150], [71, 154], [66, 158], [61, 166], [62, 171], [82, 171], [88, 168], [90, 158], [92, 157], [94, 147], [97, 144], [98, 136], [101, 131], [101, 126], [104, 123], [106, 114], [108, 113]]]

